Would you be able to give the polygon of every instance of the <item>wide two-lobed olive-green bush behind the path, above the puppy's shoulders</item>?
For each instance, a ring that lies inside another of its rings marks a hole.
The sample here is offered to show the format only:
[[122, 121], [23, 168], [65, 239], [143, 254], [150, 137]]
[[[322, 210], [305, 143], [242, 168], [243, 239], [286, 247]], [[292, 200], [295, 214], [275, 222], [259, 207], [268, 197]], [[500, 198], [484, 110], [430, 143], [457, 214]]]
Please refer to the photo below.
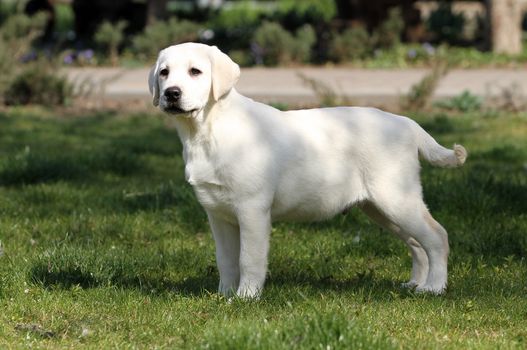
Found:
[[254, 33], [253, 41], [268, 66], [309, 62], [316, 37], [310, 25], [299, 28], [293, 36], [276, 22], [264, 22]]

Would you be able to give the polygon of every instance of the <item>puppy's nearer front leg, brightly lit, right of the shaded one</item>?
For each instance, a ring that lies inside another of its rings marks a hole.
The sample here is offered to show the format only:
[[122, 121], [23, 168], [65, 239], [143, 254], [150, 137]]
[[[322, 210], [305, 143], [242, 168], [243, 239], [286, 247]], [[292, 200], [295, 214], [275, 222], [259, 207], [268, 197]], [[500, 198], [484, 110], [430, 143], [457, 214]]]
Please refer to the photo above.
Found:
[[240, 224], [240, 285], [241, 298], [258, 298], [267, 273], [267, 254], [271, 233], [271, 214], [260, 208], [244, 208], [238, 212]]

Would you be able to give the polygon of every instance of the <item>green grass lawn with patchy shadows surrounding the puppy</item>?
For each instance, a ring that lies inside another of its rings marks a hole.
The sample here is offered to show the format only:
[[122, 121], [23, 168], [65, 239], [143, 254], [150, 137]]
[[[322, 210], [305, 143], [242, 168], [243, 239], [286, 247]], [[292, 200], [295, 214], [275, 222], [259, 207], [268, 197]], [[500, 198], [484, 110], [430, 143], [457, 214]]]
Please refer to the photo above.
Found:
[[444, 296], [352, 210], [275, 225], [260, 301], [227, 302], [170, 122], [0, 112], [0, 348], [524, 349], [527, 114], [414, 115], [465, 167], [423, 164], [450, 234]]

